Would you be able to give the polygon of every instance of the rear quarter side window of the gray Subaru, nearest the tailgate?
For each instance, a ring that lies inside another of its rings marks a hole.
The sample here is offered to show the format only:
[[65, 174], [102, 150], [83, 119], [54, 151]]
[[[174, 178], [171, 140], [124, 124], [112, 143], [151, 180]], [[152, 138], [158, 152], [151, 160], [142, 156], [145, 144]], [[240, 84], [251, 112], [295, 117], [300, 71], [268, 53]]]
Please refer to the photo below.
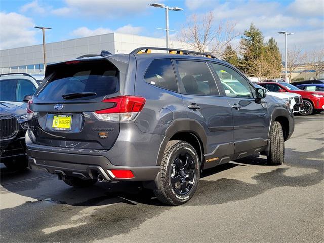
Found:
[[178, 92], [176, 75], [170, 59], [156, 59], [145, 73], [145, 81], [164, 89]]

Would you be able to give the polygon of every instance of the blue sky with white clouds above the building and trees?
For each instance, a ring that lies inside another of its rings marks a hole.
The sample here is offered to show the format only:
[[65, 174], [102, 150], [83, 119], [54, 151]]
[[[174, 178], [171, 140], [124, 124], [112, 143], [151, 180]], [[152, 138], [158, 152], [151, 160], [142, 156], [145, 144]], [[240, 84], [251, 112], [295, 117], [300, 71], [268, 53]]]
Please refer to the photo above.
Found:
[[[164, 10], [148, 6], [147, 0], [1, 0], [0, 49], [42, 43], [41, 30], [47, 26], [46, 41], [84, 37], [109, 32], [133, 33], [164, 38]], [[212, 11], [215, 24], [231, 21], [235, 31], [242, 33], [251, 22], [261, 29], [265, 38], [274, 37], [279, 47], [284, 36], [278, 31], [295, 33], [289, 36], [290, 45], [302, 49], [322, 48], [324, 43], [324, 1], [321, 0], [186, 0], [157, 1], [178, 6], [184, 11], [170, 11], [170, 29], [180, 30], [192, 14]]]

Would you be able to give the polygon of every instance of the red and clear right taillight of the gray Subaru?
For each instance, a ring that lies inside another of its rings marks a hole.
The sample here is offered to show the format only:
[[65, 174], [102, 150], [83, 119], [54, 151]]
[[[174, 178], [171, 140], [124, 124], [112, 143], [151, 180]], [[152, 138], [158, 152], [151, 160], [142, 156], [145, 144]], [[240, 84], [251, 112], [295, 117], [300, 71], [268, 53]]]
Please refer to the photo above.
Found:
[[104, 110], [97, 110], [93, 114], [103, 121], [130, 121], [145, 105], [145, 98], [138, 96], [118, 96], [104, 99], [102, 102], [113, 103], [113, 106]]

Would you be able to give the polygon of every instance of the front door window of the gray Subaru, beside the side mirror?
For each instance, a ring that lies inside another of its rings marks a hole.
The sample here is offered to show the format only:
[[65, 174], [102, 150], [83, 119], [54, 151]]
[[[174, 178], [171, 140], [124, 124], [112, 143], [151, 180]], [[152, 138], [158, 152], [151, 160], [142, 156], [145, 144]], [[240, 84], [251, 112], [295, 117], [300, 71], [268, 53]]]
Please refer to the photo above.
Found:
[[218, 75], [226, 96], [229, 97], [253, 97], [249, 83], [235, 70], [212, 63], [212, 67]]

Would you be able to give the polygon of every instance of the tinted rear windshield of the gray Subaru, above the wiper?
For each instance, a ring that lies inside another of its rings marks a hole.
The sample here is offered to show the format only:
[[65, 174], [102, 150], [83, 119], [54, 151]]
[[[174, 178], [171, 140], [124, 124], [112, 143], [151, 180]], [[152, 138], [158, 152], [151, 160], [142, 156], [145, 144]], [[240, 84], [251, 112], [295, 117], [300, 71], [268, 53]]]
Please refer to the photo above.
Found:
[[53, 74], [37, 95], [39, 100], [63, 101], [62, 95], [82, 92], [96, 95], [75, 100], [93, 99], [119, 91], [119, 71], [107, 60], [72, 61], [51, 68]]

